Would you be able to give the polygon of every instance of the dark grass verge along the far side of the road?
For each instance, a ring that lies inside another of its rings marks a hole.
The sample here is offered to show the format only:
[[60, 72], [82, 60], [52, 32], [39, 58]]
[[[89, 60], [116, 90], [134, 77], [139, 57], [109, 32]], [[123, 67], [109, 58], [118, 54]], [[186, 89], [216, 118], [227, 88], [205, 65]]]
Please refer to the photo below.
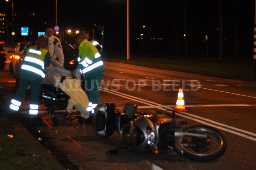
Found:
[[124, 54], [102, 55], [103, 60], [123, 61], [128, 63], [152, 65], [164, 68], [180, 69], [184, 71], [201, 72], [222, 75], [234, 78], [254, 79], [253, 63], [248, 59], [224, 59], [219, 60], [212, 57], [177, 58], [155, 55], [131, 54], [130, 60]]

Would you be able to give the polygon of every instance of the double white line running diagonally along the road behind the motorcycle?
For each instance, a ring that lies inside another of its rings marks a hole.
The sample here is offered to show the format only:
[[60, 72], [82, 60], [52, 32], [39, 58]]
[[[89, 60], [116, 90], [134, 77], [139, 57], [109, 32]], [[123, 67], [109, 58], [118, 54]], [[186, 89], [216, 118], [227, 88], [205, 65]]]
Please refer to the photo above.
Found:
[[[100, 88], [100, 89], [102, 91], [104, 91], [104, 92], [107, 92], [107, 93], [110, 93], [110, 94], [114, 94], [116, 96], [127, 98], [127, 99], [130, 99], [130, 100], [133, 100], [133, 101], [137, 101], [137, 102], [140, 102], [140, 103], [144, 103], [144, 104], [149, 105], [149, 106], [154, 106], [155, 108], [158, 108], [160, 110], [166, 110], [166, 109], [173, 110], [173, 108], [166, 107], [166, 106], [163, 106], [161, 104], [158, 104], [158, 103], [155, 103], [155, 102], [151, 102], [151, 101], [148, 101], [148, 100], [144, 100], [144, 99], [141, 99], [141, 98], [138, 98], [138, 97], [130, 96], [130, 95], [125, 94], [125, 93], [120, 93], [120, 92], [109, 90], [109, 89], [105, 89], [105, 88]], [[167, 112], [172, 113], [172, 111], [167, 111]], [[233, 133], [233, 134], [236, 134], [238, 136], [241, 136], [241, 137], [244, 137], [244, 138], [256, 141], [256, 138], [248, 136], [248, 135], [245, 135], [245, 134], [242, 134], [242, 133], [239, 133], [239, 132], [250, 134], [252, 136], [256, 136], [255, 133], [248, 132], [248, 131], [245, 131], [245, 130], [242, 130], [242, 129], [238, 129], [238, 128], [235, 128], [235, 127], [232, 127], [232, 126], [228, 126], [228, 125], [225, 125], [225, 124], [222, 124], [222, 123], [219, 123], [219, 122], [215, 122], [213, 120], [206, 119], [206, 118], [203, 118], [203, 117], [200, 117], [200, 116], [196, 116], [196, 115], [193, 115], [193, 114], [190, 114], [190, 113], [186, 113], [186, 112], [178, 112], [178, 113], [176, 112], [175, 114], [178, 115], [178, 116], [185, 117], [187, 119], [190, 119], [190, 120], [193, 120], [193, 121], [196, 121], [196, 122], [200, 122], [202, 124], [205, 124], [205, 125], [208, 125], [208, 126], [212, 126], [212, 127], [224, 130], [226, 132]], [[208, 121], [210, 123], [207, 123], [205, 121]], [[214, 125], [214, 124], [216, 124], [216, 125]], [[224, 126], [225, 128], [224, 127], [220, 127], [220, 126]], [[227, 129], [227, 128], [229, 128], [229, 129]], [[230, 130], [230, 129], [232, 129], [232, 130]], [[234, 130], [237, 130], [239, 132], [235, 132]]]

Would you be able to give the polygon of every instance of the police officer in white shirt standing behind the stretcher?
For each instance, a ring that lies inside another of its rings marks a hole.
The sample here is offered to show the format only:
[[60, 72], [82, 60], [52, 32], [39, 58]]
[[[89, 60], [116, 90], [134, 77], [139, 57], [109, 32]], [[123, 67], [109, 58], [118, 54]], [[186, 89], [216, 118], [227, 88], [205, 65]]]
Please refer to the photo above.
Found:
[[54, 66], [62, 67], [64, 64], [64, 54], [62, 51], [62, 46], [60, 39], [53, 35], [54, 26], [47, 25], [46, 26], [46, 36], [47, 36], [47, 45], [50, 53], [50, 60]]

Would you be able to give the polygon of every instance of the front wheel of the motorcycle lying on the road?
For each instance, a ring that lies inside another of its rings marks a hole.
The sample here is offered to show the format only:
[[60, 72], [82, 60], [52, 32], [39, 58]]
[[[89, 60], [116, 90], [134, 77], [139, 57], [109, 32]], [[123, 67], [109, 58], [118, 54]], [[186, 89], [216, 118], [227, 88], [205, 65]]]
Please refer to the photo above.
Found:
[[211, 126], [189, 126], [184, 128], [183, 131], [207, 135], [206, 138], [184, 136], [176, 141], [179, 142], [183, 150], [182, 156], [188, 159], [195, 161], [214, 160], [222, 156], [227, 149], [227, 141], [223, 134]]

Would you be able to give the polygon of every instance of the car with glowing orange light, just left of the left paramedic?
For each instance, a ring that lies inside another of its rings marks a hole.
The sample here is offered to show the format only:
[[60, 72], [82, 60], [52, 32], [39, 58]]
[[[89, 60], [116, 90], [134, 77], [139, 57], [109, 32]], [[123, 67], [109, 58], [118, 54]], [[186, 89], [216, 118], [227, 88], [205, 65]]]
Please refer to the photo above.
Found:
[[19, 60], [22, 52], [25, 49], [25, 46], [28, 43], [31, 43], [31, 42], [26, 42], [26, 41], [18, 42], [17, 46], [14, 48], [14, 52], [10, 55], [11, 62], [10, 62], [10, 65], [9, 65], [9, 70], [10, 70], [10, 73], [13, 74], [14, 77], [16, 75], [15, 64]]

